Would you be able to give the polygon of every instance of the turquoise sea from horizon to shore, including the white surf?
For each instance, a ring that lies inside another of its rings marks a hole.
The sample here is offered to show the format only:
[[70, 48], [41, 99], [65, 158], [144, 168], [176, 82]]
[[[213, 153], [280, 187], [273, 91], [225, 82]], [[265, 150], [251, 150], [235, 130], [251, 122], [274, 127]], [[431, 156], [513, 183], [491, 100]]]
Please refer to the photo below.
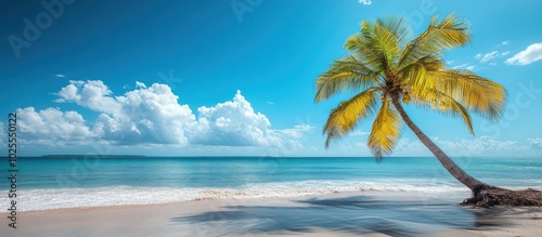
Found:
[[[542, 157], [454, 161], [488, 184], [542, 189]], [[460, 202], [470, 194], [434, 157], [391, 157], [380, 163], [373, 158], [27, 157], [18, 158], [17, 168], [20, 211], [364, 190]], [[0, 182], [0, 205], [9, 203], [8, 182]]]

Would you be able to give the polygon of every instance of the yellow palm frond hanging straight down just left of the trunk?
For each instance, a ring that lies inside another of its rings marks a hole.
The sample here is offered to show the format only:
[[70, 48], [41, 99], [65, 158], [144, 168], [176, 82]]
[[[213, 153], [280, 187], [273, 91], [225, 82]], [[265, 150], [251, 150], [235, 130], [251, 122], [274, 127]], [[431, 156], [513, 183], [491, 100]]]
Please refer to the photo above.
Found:
[[391, 154], [401, 131], [402, 120], [389, 103], [389, 98], [385, 97], [367, 139], [367, 146], [376, 160], [379, 160], [383, 155]]

